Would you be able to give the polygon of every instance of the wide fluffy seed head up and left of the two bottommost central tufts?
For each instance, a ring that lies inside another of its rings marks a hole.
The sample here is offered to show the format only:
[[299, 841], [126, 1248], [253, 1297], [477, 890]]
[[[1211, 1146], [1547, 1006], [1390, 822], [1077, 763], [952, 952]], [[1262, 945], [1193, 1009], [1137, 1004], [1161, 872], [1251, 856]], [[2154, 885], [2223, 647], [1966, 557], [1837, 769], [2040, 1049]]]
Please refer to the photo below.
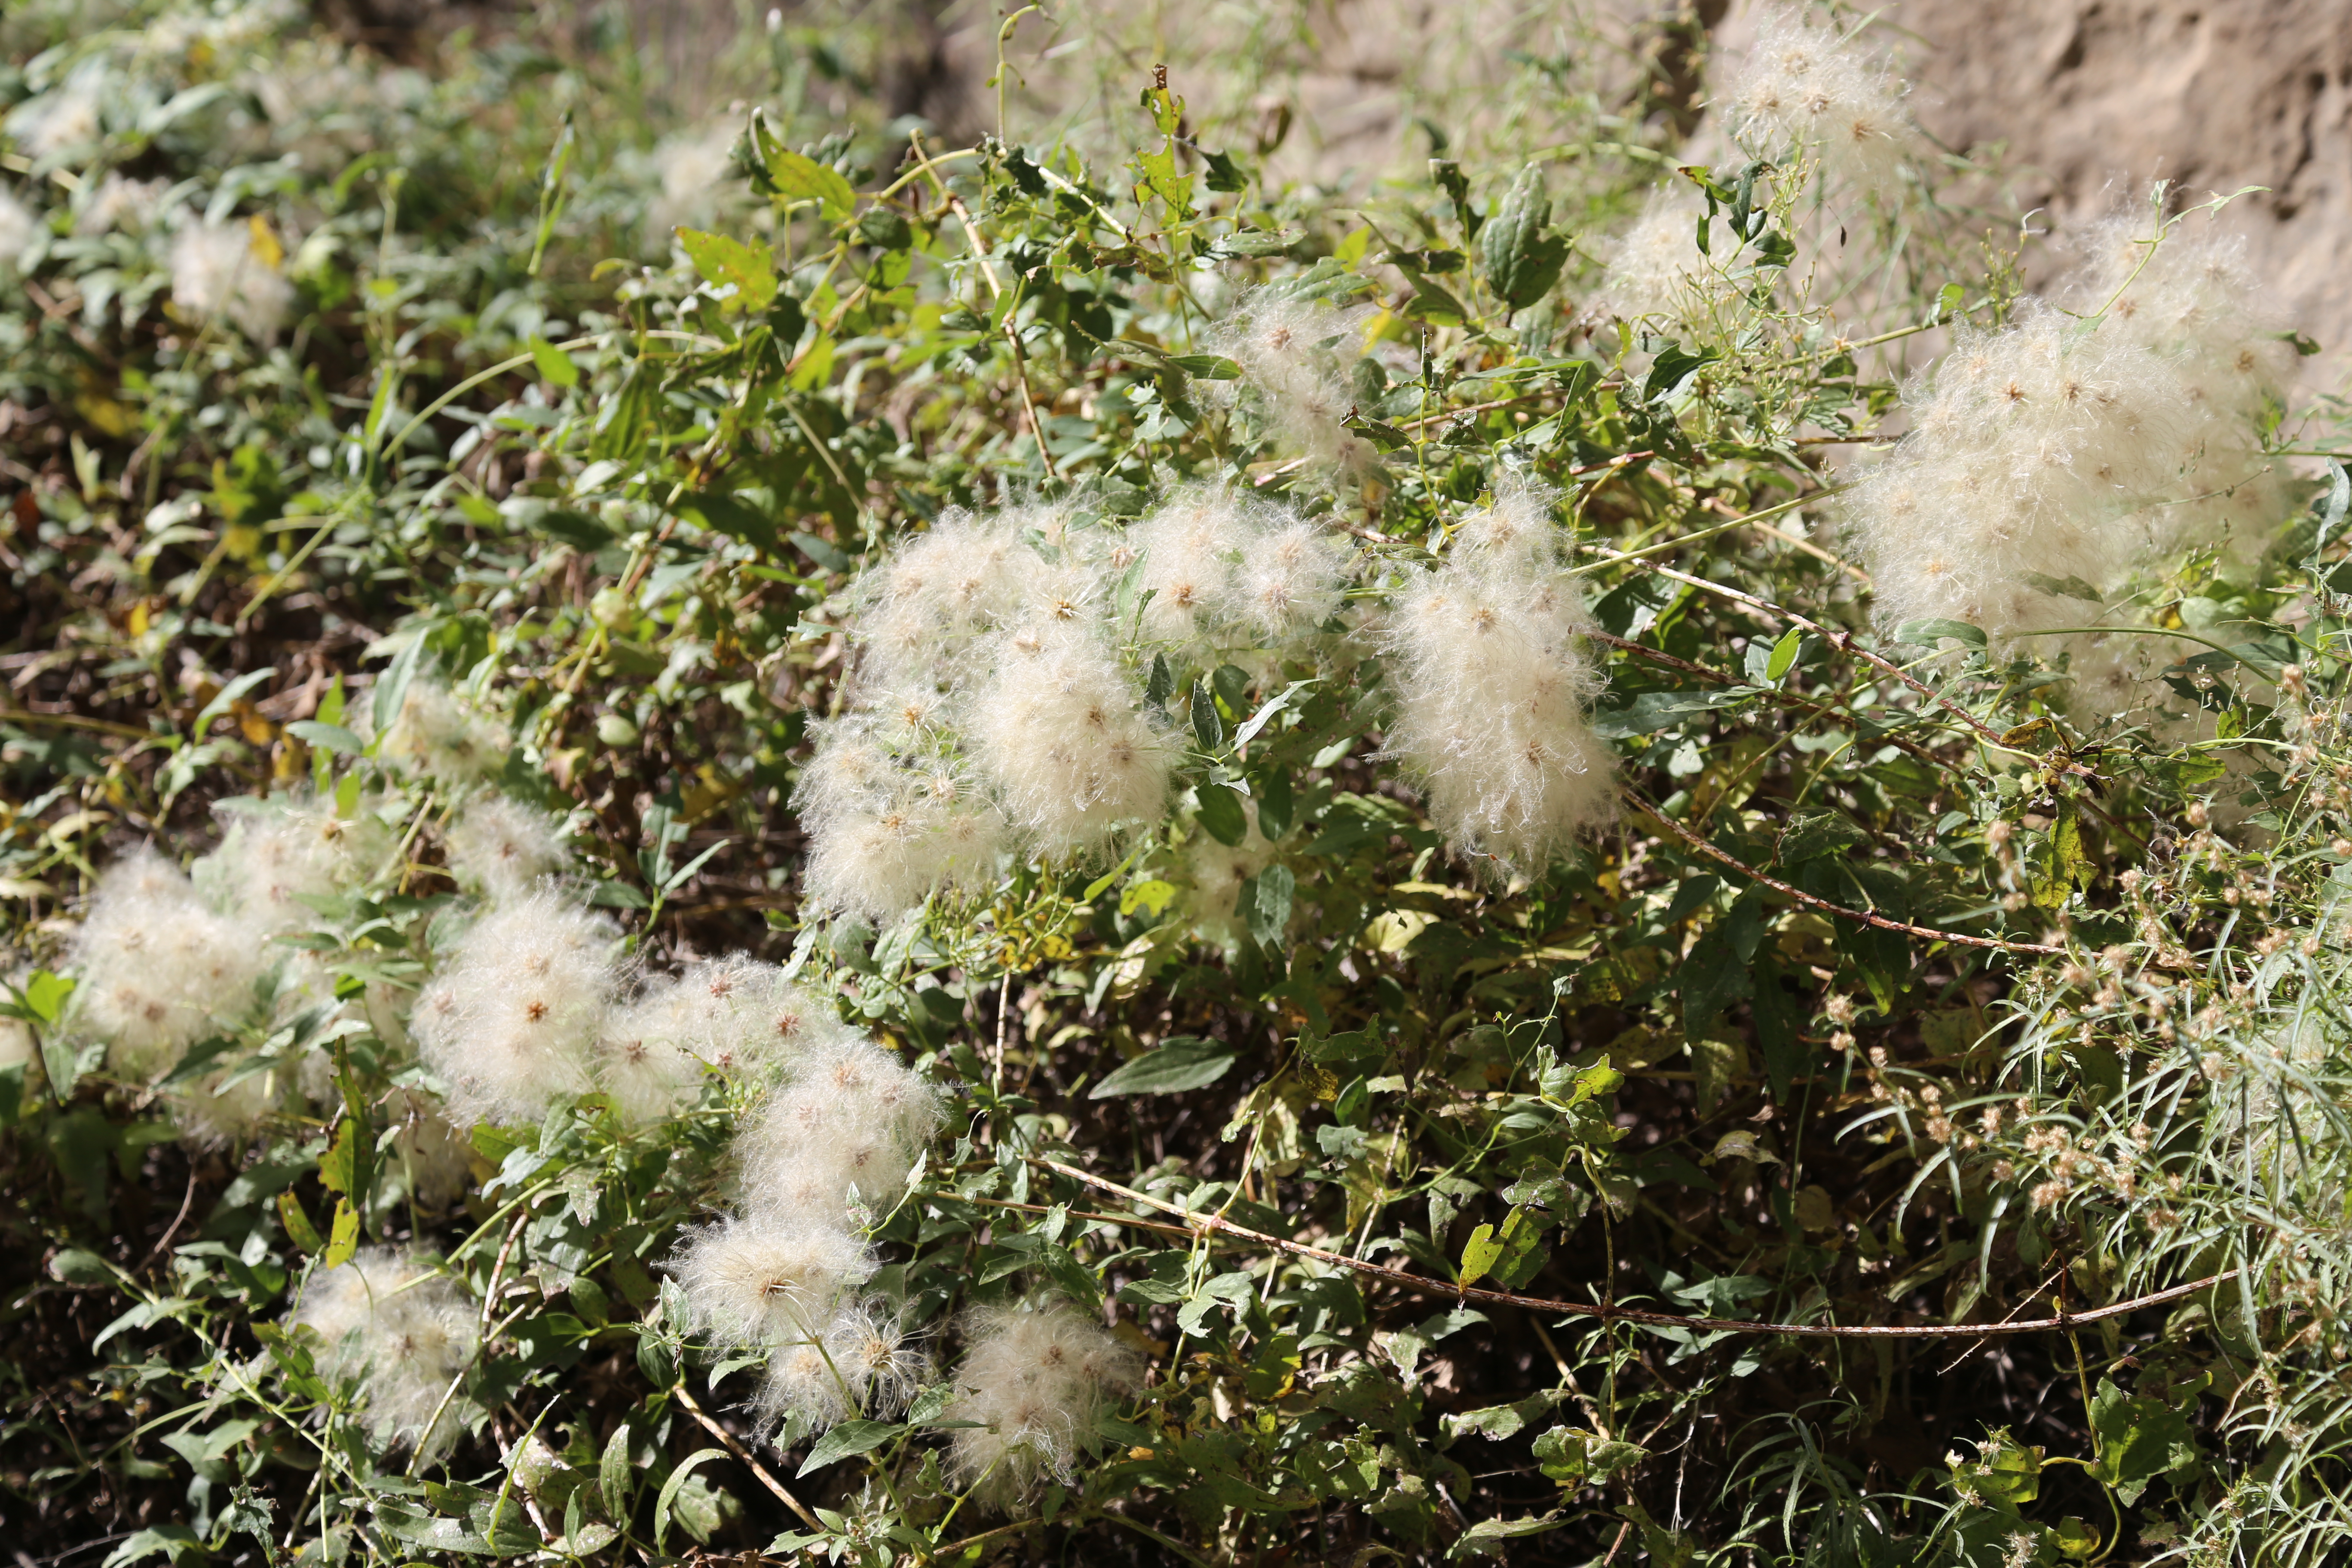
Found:
[[736, 1349], [823, 1333], [873, 1269], [873, 1253], [847, 1229], [776, 1215], [727, 1215], [687, 1232], [670, 1262], [694, 1331]]

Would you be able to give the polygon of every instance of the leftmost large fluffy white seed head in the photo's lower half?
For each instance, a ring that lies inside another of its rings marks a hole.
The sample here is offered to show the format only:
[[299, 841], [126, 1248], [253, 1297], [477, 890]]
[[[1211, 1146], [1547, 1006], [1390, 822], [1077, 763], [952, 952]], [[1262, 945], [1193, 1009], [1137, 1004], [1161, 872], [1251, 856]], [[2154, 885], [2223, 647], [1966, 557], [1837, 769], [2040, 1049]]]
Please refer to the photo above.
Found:
[[73, 936], [75, 1025], [108, 1044], [108, 1063], [151, 1077], [254, 999], [268, 943], [207, 905], [153, 849], [118, 860]]

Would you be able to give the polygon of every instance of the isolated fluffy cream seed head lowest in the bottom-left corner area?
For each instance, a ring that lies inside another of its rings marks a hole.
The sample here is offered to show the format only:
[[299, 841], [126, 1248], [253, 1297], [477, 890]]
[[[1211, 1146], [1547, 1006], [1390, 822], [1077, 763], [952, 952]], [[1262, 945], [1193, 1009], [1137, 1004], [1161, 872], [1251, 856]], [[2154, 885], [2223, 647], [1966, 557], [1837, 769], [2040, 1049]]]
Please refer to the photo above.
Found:
[[426, 1432], [475, 1345], [473, 1302], [447, 1276], [430, 1274], [407, 1251], [374, 1246], [313, 1276], [292, 1321], [322, 1340], [320, 1373], [358, 1380], [379, 1443], [414, 1446], [430, 1458], [456, 1441], [452, 1410]]

